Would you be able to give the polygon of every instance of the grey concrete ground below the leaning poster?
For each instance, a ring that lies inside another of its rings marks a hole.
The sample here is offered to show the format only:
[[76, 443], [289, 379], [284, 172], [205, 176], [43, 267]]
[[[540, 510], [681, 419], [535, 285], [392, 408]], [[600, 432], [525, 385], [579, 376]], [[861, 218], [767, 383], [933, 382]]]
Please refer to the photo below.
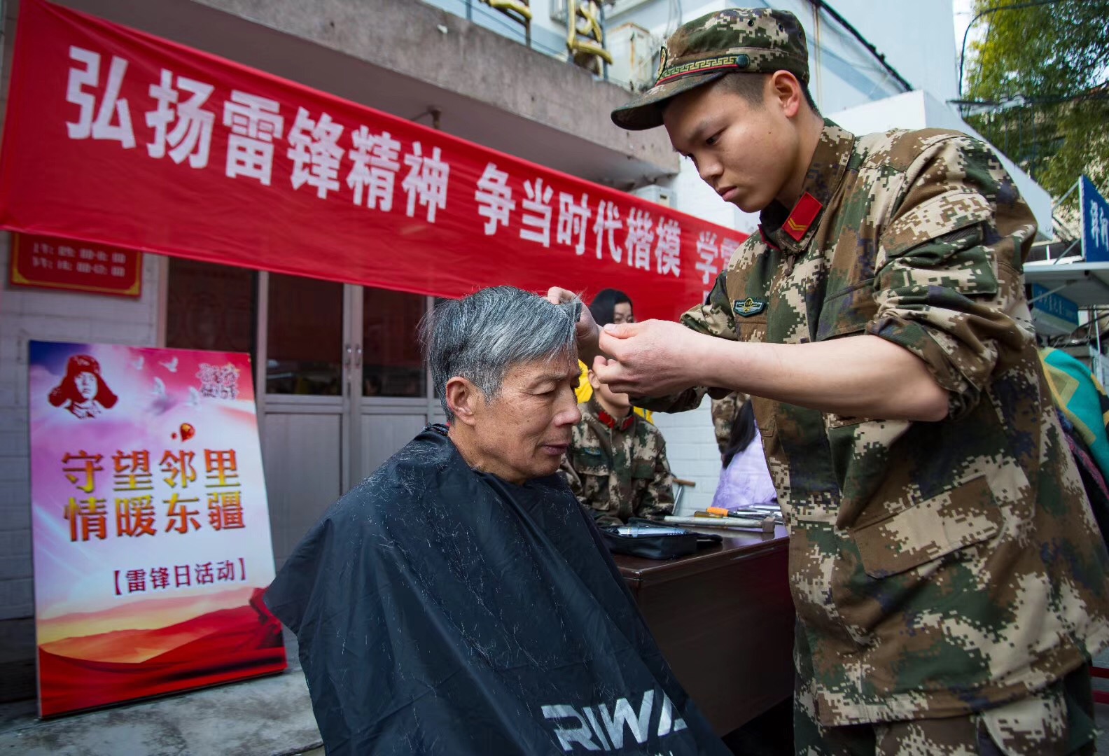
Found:
[[285, 638], [279, 675], [47, 722], [34, 701], [0, 705], [0, 755], [323, 756], [296, 640]]

